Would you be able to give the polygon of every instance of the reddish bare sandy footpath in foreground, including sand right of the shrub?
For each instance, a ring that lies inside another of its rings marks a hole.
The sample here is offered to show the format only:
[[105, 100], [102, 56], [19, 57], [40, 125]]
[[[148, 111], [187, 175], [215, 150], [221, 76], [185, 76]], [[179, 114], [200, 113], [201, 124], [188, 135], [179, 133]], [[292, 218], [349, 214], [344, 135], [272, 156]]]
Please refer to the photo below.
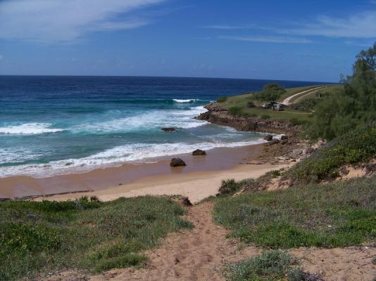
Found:
[[[212, 202], [190, 207], [187, 220], [194, 224], [194, 229], [169, 235], [160, 248], [149, 251], [146, 268], [111, 270], [91, 277], [67, 271], [44, 280], [224, 280], [221, 275], [224, 263], [259, 254], [261, 249], [238, 249], [236, 241], [226, 238], [228, 231], [213, 223], [212, 208]], [[301, 248], [292, 250], [292, 254], [302, 259], [305, 270], [321, 273], [327, 281], [371, 281], [376, 276], [375, 266], [372, 264], [372, 256], [376, 255], [375, 248]]]

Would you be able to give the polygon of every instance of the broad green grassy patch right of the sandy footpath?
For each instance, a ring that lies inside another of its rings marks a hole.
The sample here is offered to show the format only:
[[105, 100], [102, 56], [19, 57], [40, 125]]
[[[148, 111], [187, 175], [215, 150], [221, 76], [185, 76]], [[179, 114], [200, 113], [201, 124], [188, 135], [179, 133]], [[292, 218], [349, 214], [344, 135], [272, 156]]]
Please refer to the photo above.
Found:
[[219, 197], [213, 216], [242, 242], [270, 248], [375, 242], [376, 176]]

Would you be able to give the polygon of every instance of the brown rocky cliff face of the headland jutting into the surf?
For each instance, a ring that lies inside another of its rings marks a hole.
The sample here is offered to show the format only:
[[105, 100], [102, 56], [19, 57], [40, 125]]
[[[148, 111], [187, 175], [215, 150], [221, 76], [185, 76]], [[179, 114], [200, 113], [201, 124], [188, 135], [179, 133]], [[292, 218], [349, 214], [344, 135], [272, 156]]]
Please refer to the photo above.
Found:
[[298, 133], [300, 126], [293, 126], [287, 122], [261, 119], [260, 117], [237, 117], [230, 115], [225, 108], [218, 103], [210, 103], [205, 106], [207, 112], [197, 117], [213, 124], [231, 126], [239, 131], [258, 131], [261, 133]]

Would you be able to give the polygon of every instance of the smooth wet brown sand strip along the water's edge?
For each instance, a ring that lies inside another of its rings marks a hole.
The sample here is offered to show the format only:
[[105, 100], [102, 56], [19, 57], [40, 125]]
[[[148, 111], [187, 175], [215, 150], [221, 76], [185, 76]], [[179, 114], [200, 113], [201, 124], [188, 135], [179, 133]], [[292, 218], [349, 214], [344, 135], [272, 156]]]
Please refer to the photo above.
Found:
[[[174, 157], [181, 157], [187, 163], [187, 166], [178, 168], [170, 168], [171, 157], [165, 157], [154, 163], [123, 164], [118, 167], [95, 169], [82, 174], [65, 174], [46, 178], [11, 176], [0, 178], [0, 198], [6, 200], [42, 197], [51, 200], [58, 195], [65, 195], [67, 198], [77, 197], [82, 195], [82, 193], [92, 195], [93, 192], [114, 187], [127, 190], [130, 185], [143, 181], [149, 181], [149, 185], [153, 186], [155, 185], [153, 181], [166, 183], [168, 178], [174, 178], [176, 183], [177, 179], [184, 176], [188, 176], [186, 178], [188, 181], [193, 181], [196, 176], [202, 177], [206, 175], [213, 178], [215, 174], [221, 173], [227, 173], [228, 176], [226, 178], [231, 178], [231, 174], [244, 171], [239, 169], [239, 166], [254, 166], [257, 168], [255, 170], [264, 169], [265, 167], [272, 169], [271, 166], [264, 166], [271, 164], [246, 164], [256, 160], [262, 155], [262, 152], [262, 144], [234, 148], [214, 148], [213, 150], [208, 150], [208, 155], [206, 156], [175, 155]], [[245, 177], [247, 176], [245, 175]], [[161, 178], [163, 178], [163, 181], [160, 181]]]

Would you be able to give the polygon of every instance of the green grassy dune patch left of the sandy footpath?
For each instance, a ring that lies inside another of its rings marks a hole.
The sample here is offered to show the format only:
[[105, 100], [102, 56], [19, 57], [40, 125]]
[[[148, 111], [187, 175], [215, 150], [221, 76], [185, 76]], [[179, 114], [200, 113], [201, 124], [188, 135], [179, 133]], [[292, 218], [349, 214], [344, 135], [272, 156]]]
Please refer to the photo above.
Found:
[[0, 280], [65, 268], [98, 273], [142, 266], [144, 250], [192, 227], [182, 214], [169, 197], [0, 202]]

